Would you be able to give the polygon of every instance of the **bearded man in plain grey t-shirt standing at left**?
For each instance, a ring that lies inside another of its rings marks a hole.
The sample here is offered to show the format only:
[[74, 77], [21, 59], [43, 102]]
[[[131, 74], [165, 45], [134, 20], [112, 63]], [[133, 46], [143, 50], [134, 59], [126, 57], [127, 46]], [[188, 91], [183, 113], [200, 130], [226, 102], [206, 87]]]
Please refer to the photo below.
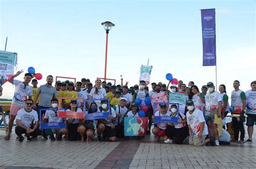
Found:
[[[45, 85], [41, 85], [36, 93], [36, 98], [34, 100], [34, 103], [37, 102], [37, 99], [39, 96], [41, 96], [41, 100], [37, 106], [37, 114], [38, 114], [38, 118], [40, 120], [39, 116], [39, 111], [40, 109], [50, 109], [51, 108], [51, 99], [53, 98], [57, 98], [57, 91], [55, 89], [55, 87], [52, 86], [52, 82], [53, 82], [53, 76], [49, 75], [46, 78], [46, 84]], [[45, 111], [42, 111], [41, 116], [43, 115]]]

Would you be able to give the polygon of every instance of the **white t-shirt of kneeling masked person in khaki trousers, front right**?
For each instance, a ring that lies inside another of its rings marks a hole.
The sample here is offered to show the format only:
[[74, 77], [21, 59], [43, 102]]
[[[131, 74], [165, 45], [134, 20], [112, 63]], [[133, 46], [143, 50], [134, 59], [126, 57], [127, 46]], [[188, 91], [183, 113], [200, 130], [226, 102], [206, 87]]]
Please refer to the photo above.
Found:
[[[187, 111], [186, 117], [187, 117], [187, 124], [190, 124], [190, 127], [193, 131], [193, 135], [197, 136], [197, 134], [201, 130], [200, 123], [202, 123], [202, 122], [205, 123], [205, 118], [204, 118], [203, 112], [196, 108], [196, 109], [194, 109], [194, 112], [192, 114], [190, 114], [190, 111]], [[206, 135], [206, 134], [208, 134], [208, 128], [205, 123], [203, 135]]]

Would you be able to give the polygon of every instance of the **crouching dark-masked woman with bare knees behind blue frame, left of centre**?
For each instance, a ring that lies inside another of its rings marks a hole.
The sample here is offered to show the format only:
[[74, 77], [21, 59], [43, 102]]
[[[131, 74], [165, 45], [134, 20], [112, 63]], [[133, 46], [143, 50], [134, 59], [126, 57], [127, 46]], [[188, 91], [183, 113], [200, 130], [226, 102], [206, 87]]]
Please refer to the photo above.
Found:
[[[98, 112], [98, 106], [96, 103], [92, 103], [88, 109], [88, 114]], [[80, 141], [85, 141], [84, 134], [86, 133], [86, 136], [88, 138], [88, 141], [92, 141], [92, 136], [95, 132], [95, 126], [93, 125], [95, 123], [93, 120], [86, 120], [86, 117], [80, 121], [80, 124], [78, 126], [78, 133], [81, 136]]]

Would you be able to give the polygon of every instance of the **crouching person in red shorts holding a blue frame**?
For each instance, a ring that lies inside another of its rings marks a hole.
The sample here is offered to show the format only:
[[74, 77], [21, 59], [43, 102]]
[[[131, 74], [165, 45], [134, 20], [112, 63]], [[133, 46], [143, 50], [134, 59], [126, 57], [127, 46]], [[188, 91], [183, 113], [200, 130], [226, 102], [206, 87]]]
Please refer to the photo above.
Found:
[[[171, 116], [171, 112], [167, 110], [167, 105], [166, 104], [159, 104], [160, 106], [160, 111], [157, 111], [153, 116], [152, 116], [152, 122], [156, 118], [156, 116]], [[159, 138], [161, 136], [164, 137], [164, 141], [168, 139], [166, 136], [165, 130], [166, 130], [167, 123], [166, 122], [159, 122], [157, 126], [155, 126], [152, 129], [152, 133], [157, 136], [156, 141], [159, 141]]]

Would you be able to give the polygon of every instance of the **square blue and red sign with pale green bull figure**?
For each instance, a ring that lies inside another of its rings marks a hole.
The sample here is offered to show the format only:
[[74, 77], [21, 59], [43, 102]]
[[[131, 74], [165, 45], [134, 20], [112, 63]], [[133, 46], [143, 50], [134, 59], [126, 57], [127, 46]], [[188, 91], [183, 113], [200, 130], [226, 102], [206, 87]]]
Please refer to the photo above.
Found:
[[124, 135], [125, 136], [145, 136], [147, 131], [147, 117], [125, 117]]

